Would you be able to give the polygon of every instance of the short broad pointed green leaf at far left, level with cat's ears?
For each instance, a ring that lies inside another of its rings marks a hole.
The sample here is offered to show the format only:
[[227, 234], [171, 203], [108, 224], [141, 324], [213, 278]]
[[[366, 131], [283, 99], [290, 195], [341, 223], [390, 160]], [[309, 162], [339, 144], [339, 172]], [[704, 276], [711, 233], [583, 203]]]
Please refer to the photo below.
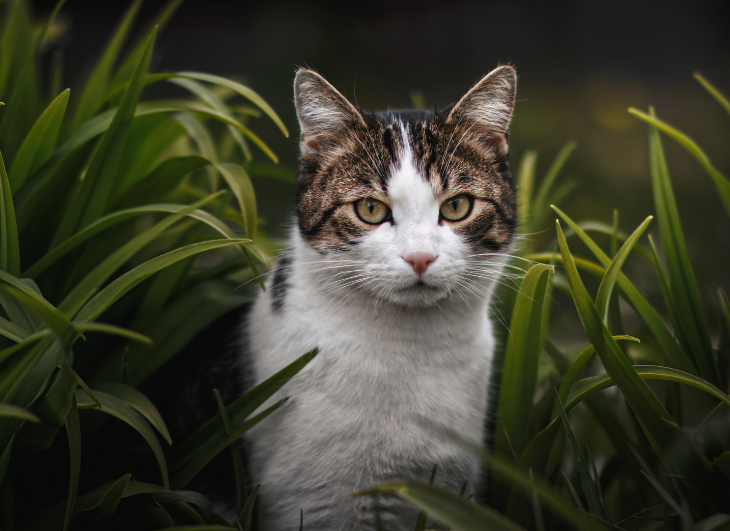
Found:
[[26, 135], [12, 161], [9, 172], [10, 190], [15, 193], [28, 175], [39, 169], [53, 154], [55, 140], [69, 102], [70, 88], [66, 88], [48, 105]]

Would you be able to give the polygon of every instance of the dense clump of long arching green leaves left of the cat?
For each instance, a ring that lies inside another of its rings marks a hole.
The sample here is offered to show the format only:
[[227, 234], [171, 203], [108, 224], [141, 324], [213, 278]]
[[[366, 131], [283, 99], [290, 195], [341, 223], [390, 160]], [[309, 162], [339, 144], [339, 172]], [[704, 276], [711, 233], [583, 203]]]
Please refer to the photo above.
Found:
[[[268, 118], [288, 134], [245, 85], [199, 72], [150, 73], [155, 37], [180, 3], [165, 4], [123, 56], [142, 4], [133, 1], [73, 93], [58, 86], [60, 63], [44, 72], [39, 53], [53, 48], [48, 30], [64, 1], [42, 23], [25, 0], [0, 6], [6, 531], [248, 529], [255, 490], [246, 490], [237, 439], [280, 406], [252, 417], [315, 355], [228, 405], [221, 401], [218, 416], [187, 440], [172, 441], [158, 409], [137, 389], [198, 332], [245, 302], [236, 289], [258, 277], [267, 248], [260, 245], [266, 235], [257, 227], [247, 167], [254, 157], [277, 161], [250, 125]], [[50, 83], [42, 83], [41, 72]], [[186, 89], [189, 99], [140, 101], [145, 86], [161, 82]], [[90, 446], [113, 442], [119, 424], [109, 429], [112, 417], [144, 440], [127, 453], [140, 462], [153, 456], [156, 465], [107, 475], [104, 452]], [[232, 523], [202, 494], [185, 490], [226, 448], [239, 480], [239, 518]], [[32, 489], [15, 489], [37, 470], [31, 463], [44, 459], [65, 478], [47, 473], [32, 478]]]

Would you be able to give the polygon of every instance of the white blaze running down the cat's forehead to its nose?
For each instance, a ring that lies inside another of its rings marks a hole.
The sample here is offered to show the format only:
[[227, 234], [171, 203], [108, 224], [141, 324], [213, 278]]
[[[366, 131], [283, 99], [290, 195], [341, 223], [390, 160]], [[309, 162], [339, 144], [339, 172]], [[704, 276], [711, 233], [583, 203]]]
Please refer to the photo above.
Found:
[[401, 125], [404, 142], [398, 169], [388, 180], [393, 221], [401, 253], [437, 254], [439, 203], [434, 190], [415, 167], [408, 134]]

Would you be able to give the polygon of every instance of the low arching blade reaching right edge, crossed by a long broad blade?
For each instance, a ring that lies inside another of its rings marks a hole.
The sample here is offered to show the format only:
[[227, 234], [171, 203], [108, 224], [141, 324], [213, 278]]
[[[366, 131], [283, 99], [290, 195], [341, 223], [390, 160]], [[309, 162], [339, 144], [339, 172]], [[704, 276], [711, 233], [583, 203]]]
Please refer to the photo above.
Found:
[[[639, 378], [642, 378], [642, 380], [665, 380], [683, 383], [710, 394], [725, 405], [730, 405], [730, 398], [728, 395], [713, 386], [712, 383], [704, 381], [698, 376], [683, 373], [681, 370], [672, 369], [672, 367], [661, 367], [661, 365], [634, 365], [634, 370], [636, 370], [637, 375], [639, 375]], [[608, 389], [612, 386], [615, 386], [615, 383], [612, 381], [611, 377], [605, 373], [579, 380], [570, 390], [569, 396], [566, 400], [566, 408], [573, 408], [587, 397], [590, 397], [591, 394], [601, 391], [602, 389]]]

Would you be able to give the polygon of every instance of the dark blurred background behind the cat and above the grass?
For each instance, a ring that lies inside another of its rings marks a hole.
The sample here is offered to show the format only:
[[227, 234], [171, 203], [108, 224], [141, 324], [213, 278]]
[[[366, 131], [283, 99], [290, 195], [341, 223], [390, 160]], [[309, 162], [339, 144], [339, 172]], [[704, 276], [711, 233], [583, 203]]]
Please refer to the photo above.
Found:
[[[45, 15], [53, 3], [36, 1], [37, 14]], [[163, 4], [145, 2], [132, 42]], [[66, 2], [61, 13], [69, 27], [64, 37], [69, 79], [64, 85], [72, 93], [127, 5], [125, 0]], [[513, 167], [526, 150], [536, 149], [542, 175], [561, 145], [576, 140], [562, 178], [575, 180], [577, 188], [562, 206], [575, 218], [608, 222], [619, 208], [621, 227], [630, 232], [653, 213], [653, 201], [646, 127], [626, 107], [654, 104], [660, 118], [693, 137], [729, 174], [730, 117], [691, 76], [702, 72], [730, 93], [729, 6], [628, 0], [188, 0], [158, 38], [154, 68], [245, 81], [288, 126], [289, 139], [263, 118], [254, 129], [294, 171], [298, 126], [291, 85], [297, 66], [317, 69], [361, 107], [381, 110], [443, 107], [493, 67], [512, 64], [519, 75], [510, 137]], [[153, 90], [159, 97], [173, 88]], [[665, 137], [664, 144], [700, 289], [712, 304], [715, 287], [728, 287], [728, 216], [699, 164], [672, 140]], [[293, 185], [257, 178], [255, 186], [266, 228], [283, 234]]]

